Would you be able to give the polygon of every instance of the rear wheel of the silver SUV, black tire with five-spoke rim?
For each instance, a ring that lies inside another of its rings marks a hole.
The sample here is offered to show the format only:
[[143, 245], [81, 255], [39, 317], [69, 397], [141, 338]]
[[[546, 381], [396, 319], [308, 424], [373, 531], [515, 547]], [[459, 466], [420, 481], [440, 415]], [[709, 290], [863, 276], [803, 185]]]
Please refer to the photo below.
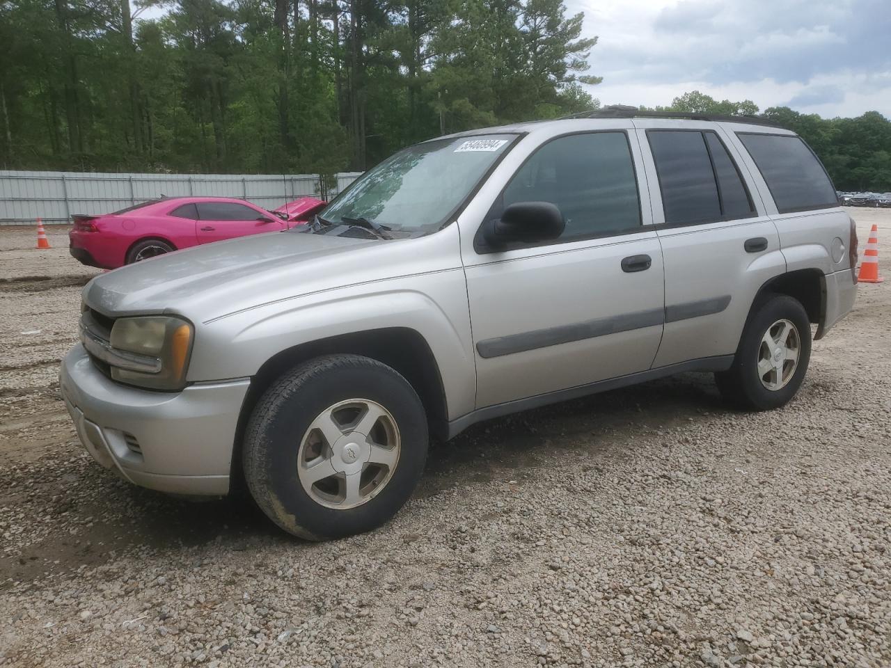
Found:
[[[782, 329], [782, 322], [792, 325], [794, 331]], [[768, 332], [772, 340], [785, 337], [789, 347], [782, 346], [784, 350], [774, 356], [765, 341]], [[795, 347], [792, 344], [796, 338], [797, 358], [793, 363], [789, 351]], [[769, 411], [796, 395], [810, 359], [811, 323], [805, 307], [788, 295], [768, 294], [753, 306], [733, 364], [728, 371], [715, 373], [715, 382], [730, 403], [748, 411]], [[764, 364], [760, 369], [759, 362]], [[764, 376], [761, 371], [766, 371]]]

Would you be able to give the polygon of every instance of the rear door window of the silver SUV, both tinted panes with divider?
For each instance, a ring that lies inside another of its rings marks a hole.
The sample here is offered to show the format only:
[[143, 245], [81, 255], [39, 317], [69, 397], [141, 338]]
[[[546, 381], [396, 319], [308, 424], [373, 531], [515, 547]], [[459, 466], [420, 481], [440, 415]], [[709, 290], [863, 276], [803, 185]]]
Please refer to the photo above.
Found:
[[740, 171], [714, 132], [650, 130], [666, 224], [714, 223], [753, 216]]

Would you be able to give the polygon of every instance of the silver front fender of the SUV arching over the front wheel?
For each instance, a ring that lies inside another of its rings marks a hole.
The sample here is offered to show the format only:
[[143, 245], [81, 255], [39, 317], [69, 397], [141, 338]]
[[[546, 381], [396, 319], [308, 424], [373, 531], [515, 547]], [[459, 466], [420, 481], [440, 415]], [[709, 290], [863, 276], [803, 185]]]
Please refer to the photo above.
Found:
[[472, 411], [476, 369], [461, 268], [318, 292], [200, 323], [188, 377], [247, 378], [294, 346], [394, 327], [415, 330], [427, 342], [449, 419]]

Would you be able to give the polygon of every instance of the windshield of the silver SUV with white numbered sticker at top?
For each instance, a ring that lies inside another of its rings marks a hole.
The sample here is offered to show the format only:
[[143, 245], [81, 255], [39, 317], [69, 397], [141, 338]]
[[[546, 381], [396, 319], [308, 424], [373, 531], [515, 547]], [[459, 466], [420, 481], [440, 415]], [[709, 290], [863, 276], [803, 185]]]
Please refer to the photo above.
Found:
[[392, 236], [437, 231], [516, 134], [479, 134], [419, 143], [359, 177], [319, 216], [325, 223], [371, 221]]

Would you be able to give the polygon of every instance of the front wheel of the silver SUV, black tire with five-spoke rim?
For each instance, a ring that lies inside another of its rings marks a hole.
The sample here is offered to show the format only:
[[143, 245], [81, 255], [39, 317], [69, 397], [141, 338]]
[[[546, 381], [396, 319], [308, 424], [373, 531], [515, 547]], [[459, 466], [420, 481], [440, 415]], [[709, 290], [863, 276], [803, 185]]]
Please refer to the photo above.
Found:
[[[352, 431], [379, 413], [367, 439]], [[395, 455], [372, 440], [395, 443]], [[368, 357], [334, 354], [287, 371], [259, 398], [245, 429], [242, 466], [267, 517], [290, 534], [322, 541], [370, 531], [396, 515], [421, 479], [427, 449], [427, 416], [408, 381]], [[366, 457], [390, 458], [391, 465]], [[346, 470], [307, 483], [315, 462], [323, 473], [329, 466]]]

